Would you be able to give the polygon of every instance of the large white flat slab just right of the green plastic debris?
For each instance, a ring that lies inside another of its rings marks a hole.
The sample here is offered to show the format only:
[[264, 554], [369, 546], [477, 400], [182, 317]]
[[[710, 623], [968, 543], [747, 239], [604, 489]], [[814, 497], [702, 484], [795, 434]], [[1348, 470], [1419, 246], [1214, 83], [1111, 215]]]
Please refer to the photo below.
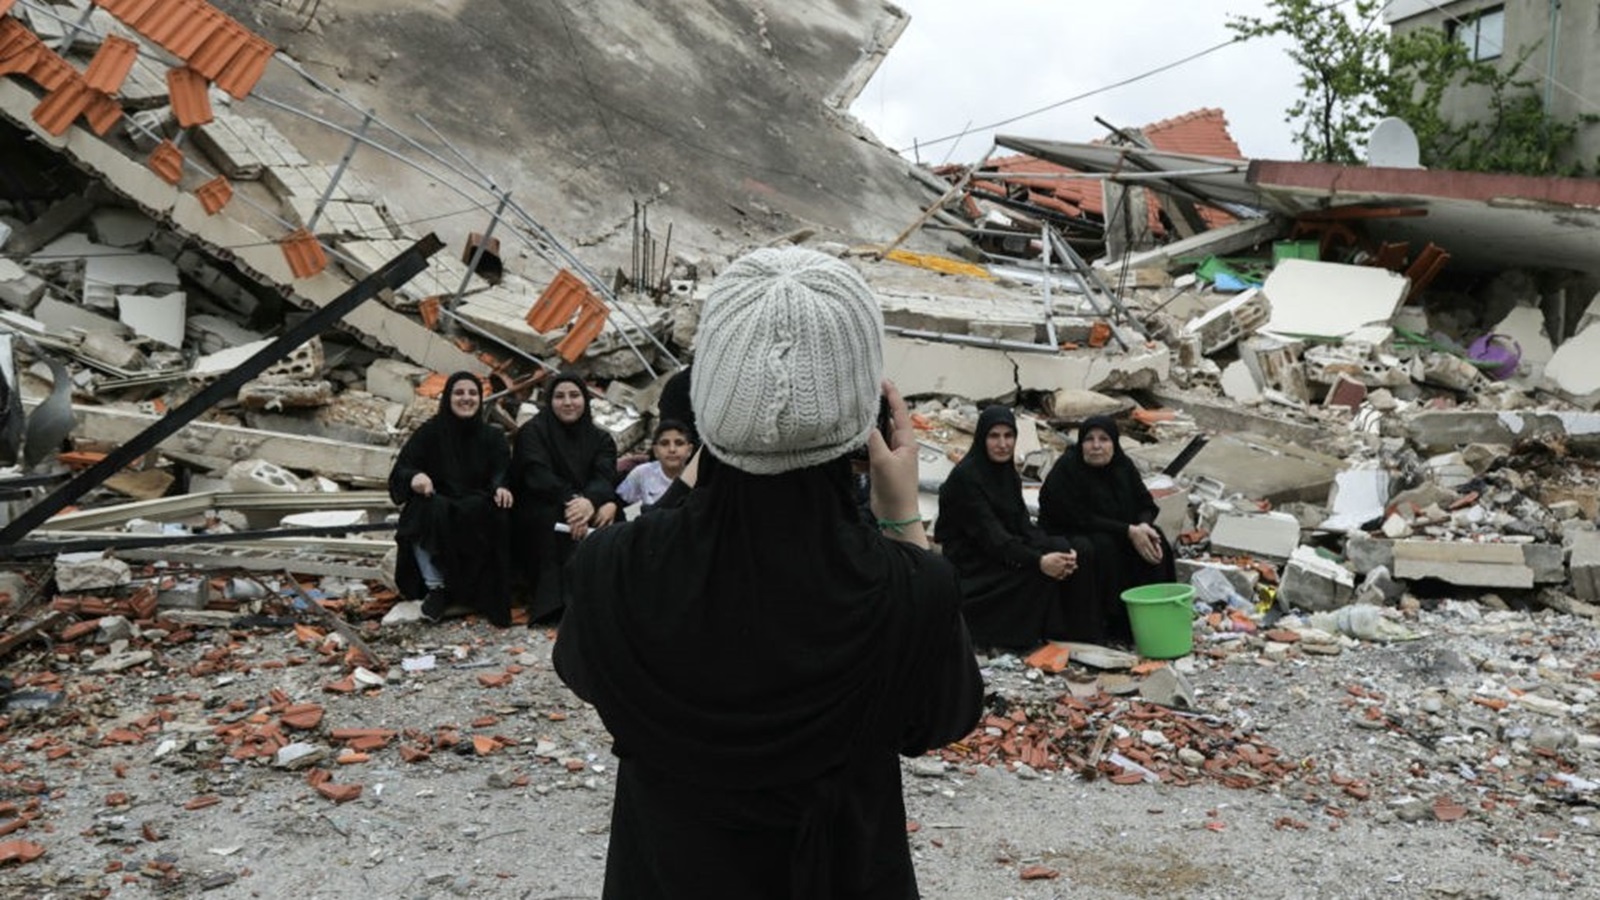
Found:
[[1342, 338], [1363, 325], [1389, 322], [1408, 288], [1403, 275], [1374, 266], [1283, 259], [1261, 285], [1270, 301], [1262, 330]]

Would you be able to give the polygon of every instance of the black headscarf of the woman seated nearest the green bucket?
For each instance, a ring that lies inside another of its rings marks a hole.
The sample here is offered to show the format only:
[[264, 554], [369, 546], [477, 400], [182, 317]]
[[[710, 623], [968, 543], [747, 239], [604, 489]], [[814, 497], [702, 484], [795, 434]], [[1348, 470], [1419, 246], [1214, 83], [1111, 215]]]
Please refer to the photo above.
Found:
[[[1104, 466], [1083, 460], [1083, 439], [1091, 431], [1110, 437], [1114, 450]], [[1038, 525], [1050, 533], [1125, 533], [1134, 522], [1155, 522], [1157, 512], [1110, 416], [1090, 416], [1078, 426], [1078, 442], [1050, 469], [1038, 492]]]

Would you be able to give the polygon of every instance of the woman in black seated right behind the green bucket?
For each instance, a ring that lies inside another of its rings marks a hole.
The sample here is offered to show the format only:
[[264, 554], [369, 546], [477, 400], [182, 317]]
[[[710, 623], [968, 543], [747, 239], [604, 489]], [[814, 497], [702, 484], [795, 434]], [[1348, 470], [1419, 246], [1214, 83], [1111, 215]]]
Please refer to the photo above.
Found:
[[1077, 445], [1050, 469], [1038, 492], [1038, 525], [1094, 548], [1104, 580], [1099, 620], [1115, 636], [1128, 633], [1123, 591], [1176, 580], [1173, 548], [1155, 527], [1157, 512], [1110, 416], [1093, 416], [1078, 428]]

